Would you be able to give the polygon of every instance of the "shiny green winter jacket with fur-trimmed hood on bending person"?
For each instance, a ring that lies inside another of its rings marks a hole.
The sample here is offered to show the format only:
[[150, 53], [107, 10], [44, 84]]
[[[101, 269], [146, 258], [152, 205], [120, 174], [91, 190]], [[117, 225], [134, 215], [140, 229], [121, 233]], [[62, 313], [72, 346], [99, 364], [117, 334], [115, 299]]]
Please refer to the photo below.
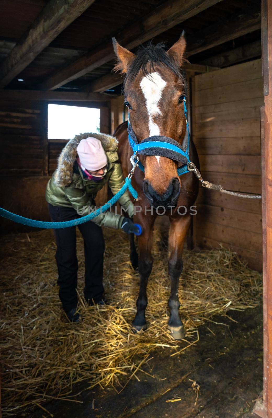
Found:
[[[76, 163], [77, 145], [80, 140], [88, 137], [95, 137], [101, 141], [108, 158], [108, 171], [99, 182], [86, 178]], [[72, 207], [84, 216], [95, 209], [95, 196], [106, 183], [115, 195], [125, 182], [118, 162], [117, 148], [116, 138], [101, 133], [84, 133], [69, 140], [59, 155], [58, 167], [46, 186], [46, 201], [53, 206]], [[134, 207], [128, 191], [118, 201], [129, 217], [133, 217]], [[104, 212], [92, 219], [92, 222], [117, 229], [121, 227], [123, 219], [123, 216], [114, 212]]]

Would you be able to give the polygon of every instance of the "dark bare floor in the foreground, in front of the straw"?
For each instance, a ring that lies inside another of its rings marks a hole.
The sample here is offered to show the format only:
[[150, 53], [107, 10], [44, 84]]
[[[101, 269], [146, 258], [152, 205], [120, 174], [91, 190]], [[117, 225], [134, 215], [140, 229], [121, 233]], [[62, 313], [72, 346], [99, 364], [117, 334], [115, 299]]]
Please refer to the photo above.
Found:
[[[79, 402], [52, 400], [27, 418], [249, 418], [262, 390], [260, 308], [214, 317], [199, 328], [200, 341], [174, 357], [156, 352], [118, 395], [115, 390], [75, 389]], [[218, 321], [218, 323], [216, 323]], [[236, 322], [237, 321], [237, 322]], [[220, 324], [220, 323], [224, 323]], [[49, 415], [50, 413], [50, 415]]]

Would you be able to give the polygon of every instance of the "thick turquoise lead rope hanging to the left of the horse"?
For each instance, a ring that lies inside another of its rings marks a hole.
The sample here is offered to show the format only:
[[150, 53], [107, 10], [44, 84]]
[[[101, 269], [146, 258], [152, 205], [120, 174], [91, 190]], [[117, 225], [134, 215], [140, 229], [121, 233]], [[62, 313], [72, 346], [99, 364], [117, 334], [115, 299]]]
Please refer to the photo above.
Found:
[[97, 209], [95, 212], [90, 213], [89, 215], [82, 216], [78, 219], [72, 219], [71, 221], [66, 222], [44, 222], [44, 221], [35, 221], [34, 219], [24, 218], [23, 216], [16, 215], [15, 213], [8, 212], [7, 210], [0, 208], [0, 216], [10, 219], [11, 221], [18, 222], [19, 224], [27, 225], [29, 227], [36, 227], [36, 228], [45, 228], [45, 229], [61, 229], [61, 228], [69, 228], [74, 227], [75, 225], [84, 224], [85, 222], [90, 221], [91, 219], [96, 218], [101, 213], [105, 212], [106, 210], [110, 209], [118, 199], [125, 193], [126, 190], [129, 190], [134, 197], [137, 199], [138, 193], [131, 184], [130, 178], [125, 178], [125, 184], [121, 187], [121, 189], [101, 208]]

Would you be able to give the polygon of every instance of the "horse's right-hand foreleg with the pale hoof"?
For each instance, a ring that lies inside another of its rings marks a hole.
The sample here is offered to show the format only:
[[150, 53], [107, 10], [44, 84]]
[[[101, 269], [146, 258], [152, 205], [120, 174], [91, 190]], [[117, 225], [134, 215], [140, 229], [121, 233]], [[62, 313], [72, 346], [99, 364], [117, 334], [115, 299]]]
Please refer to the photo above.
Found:
[[184, 329], [179, 316], [180, 301], [178, 298], [179, 278], [182, 272], [182, 251], [187, 231], [190, 227], [190, 215], [170, 218], [169, 249], [171, 251], [168, 271], [171, 279], [171, 293], [168, 301], [170, 318], [168, 328], [174, 339], [184, 338]]

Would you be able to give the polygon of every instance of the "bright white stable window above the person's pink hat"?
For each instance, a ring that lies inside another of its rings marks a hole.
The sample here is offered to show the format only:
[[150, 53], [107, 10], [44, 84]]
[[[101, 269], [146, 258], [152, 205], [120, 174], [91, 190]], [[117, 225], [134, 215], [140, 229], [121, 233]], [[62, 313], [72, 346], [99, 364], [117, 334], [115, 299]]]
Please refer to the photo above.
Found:
[[100, 109], [48, 105], [48, 139], [70, 139], [85, 132], [100, 132]]

